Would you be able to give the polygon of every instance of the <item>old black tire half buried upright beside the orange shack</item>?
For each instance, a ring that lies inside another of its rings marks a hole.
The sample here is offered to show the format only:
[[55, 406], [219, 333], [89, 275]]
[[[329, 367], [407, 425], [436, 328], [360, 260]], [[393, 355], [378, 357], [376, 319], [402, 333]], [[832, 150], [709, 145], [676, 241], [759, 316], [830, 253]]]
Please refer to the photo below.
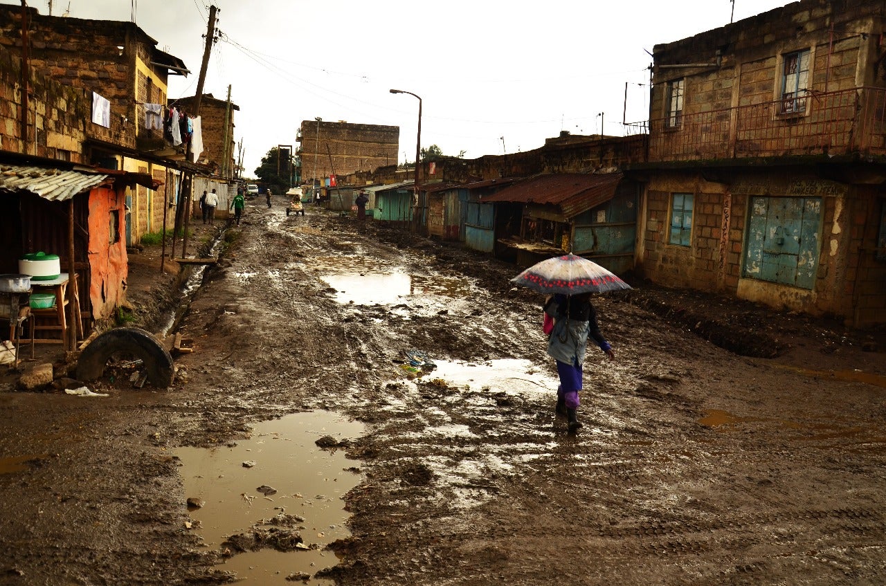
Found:
[[94, 381], [105, 372], [108, 359], [127, 352], [144, 362], [148, 382], [159, 389], [172, 384], [175, 367], [172, 356], [159, 340], [141, 328], [114, 328], [99, 335], [83, 349], [77, 360], [77, 378]]

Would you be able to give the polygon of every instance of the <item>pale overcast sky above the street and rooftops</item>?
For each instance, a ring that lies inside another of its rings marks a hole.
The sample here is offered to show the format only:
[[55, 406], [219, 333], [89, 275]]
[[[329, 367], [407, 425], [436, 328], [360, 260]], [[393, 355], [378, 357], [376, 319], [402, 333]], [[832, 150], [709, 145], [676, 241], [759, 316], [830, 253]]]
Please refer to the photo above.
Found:
[[[4, 4], [10, 4], [8, 1]], [[48, 0], [28, 0], [42, 14]], [[735, 0], [739, 20], [788, 4]], [[245, 175], [301, 120], [400, 127], [400, 162], [422, 146], [466, 158], [540, 147], [561, 130], [625, 134], [648, 118], [645, 50], [728, 24], [730, 0], [215, 0], [221, 41], [204, 91], [239, 105]], [[53, 0], [52, 14], [135, 20], [192, 72], [197, 89], [209, 4], [203, 0]], [[711, 56], [712, 57], [712, 56]], [[703, 58], [703, 56], [699, 56]], [[627, 85], [627, 100], [625, 100]], [[601, 115], [602, 114], [602, 115]]]

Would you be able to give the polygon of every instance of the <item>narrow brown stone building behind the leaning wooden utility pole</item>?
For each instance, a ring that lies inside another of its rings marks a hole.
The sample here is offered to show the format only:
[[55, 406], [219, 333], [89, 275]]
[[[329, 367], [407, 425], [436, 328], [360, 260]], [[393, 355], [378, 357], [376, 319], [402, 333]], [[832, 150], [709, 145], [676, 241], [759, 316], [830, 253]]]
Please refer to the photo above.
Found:
[[[183, 107], [187, 112], [195, 112], [197, 96], [180, 97], [170, 105]], [[215, 169], [215, 173], [226, 179], [234, 177], [235, 143], [234, 112], [240, 106], [227, 100], [204, 94], [200, 100], [200, 124], [203, 127], [203, 155], [201, 161]]]

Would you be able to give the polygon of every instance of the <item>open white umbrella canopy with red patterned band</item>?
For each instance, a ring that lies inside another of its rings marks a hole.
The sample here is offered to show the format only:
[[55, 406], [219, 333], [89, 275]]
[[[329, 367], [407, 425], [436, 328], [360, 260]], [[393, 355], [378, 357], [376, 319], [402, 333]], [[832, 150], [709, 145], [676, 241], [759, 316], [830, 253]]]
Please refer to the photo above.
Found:
[[614, 273], [587, 258], [574, 254], [548, 258], [527, 268], [510, 280], [534, 291], [545, 294], [603, 293], [619, 289], [631, 289]]

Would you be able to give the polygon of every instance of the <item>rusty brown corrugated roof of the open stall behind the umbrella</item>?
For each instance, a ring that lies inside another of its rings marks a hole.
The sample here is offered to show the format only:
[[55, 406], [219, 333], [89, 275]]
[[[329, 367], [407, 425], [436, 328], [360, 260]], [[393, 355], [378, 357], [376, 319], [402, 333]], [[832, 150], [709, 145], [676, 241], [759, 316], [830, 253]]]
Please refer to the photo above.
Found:
[[612, 199], [623, 176], [622, 173], [538, 175], [485, 196], [481, 201], [553, 204], [571, 218]]

